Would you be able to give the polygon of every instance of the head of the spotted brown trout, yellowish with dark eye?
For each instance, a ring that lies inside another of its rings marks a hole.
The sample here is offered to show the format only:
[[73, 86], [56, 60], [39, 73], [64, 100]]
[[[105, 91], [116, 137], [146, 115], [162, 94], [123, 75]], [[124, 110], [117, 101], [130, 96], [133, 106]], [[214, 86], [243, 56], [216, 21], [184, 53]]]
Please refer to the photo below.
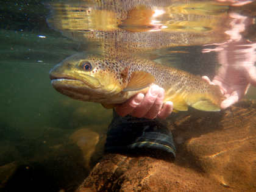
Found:
[[119, 71], [117, 62], [79, 53], [54, 66], [49, 76], [52, 86], [62, 94], [82, 101], [104, 102], [124, 88]]

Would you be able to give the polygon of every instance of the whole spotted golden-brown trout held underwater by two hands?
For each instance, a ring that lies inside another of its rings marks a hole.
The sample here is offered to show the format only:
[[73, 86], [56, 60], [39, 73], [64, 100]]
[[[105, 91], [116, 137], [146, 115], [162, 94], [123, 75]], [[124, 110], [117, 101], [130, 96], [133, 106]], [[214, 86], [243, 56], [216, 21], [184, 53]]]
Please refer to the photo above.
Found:
[[137, 93], [146, 93], [151, 84], [165, 89], [164, 102], [174, 110], [188, 106], [206, 112], [221, 110], [222, 93], [201, 77], [152, 60], [128, 54], [87, 54], [69, 56], [49, 72], [55, 90], [81, 101], [116, 107]]

